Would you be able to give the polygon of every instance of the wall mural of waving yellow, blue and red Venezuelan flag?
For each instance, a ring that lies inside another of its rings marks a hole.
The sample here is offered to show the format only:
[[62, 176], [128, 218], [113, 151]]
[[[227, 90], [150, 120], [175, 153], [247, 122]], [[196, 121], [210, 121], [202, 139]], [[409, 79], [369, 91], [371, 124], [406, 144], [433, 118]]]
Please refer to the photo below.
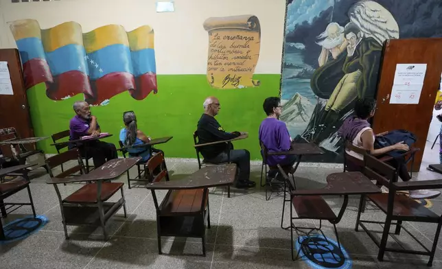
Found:
[[105, 25], [83, 34], [75, 22], [41, 30], [38, 21], [25, 19], [10, 29], [26, 89], [45, 82], [51, 100], [83, 93], [86, 102], [97, 105], [124, 91], [135, 100], [157, 92], [154, 31], [148, 25], [132, 32]]

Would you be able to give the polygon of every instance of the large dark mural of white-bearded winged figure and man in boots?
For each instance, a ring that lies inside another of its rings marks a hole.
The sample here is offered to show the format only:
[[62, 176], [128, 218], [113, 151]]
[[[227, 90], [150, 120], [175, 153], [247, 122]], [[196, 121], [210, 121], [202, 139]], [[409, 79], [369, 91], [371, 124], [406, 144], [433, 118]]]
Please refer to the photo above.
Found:
[[292, 137], [342, 161], [336, 132], [360, 97], [375, 97], [382, 45], [440, 37], [439, 0], [288, 0], [281, 96]]

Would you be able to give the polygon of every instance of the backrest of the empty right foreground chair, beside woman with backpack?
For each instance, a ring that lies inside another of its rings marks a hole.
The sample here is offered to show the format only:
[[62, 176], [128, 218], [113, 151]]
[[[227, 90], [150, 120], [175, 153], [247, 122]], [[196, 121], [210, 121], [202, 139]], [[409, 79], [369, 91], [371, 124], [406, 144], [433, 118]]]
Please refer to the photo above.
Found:
[[382, 184], [385, 187], [397, 182], [396, 169], [368, 153], [364, 155], [363, 173], [371, 180], [376, 180], [377, 184]]

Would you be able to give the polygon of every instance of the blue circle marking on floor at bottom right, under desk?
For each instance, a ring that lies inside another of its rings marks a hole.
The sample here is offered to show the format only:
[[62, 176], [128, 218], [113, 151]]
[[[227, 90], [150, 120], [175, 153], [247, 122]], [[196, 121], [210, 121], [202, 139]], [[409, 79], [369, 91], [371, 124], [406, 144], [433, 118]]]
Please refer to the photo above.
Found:
[[353, 261], [342, 244], [339, 249], [338, 243], [329, 237], [327, 237], [327, 242], [322, 235], [311, 236], [310, 240], [307, 239], [307, 236], [301, 236], [299, 240], [294, 239], [296, 242], [295, 251], [297, 252], [301, 248], [299, 257], [312, 268], [349, 269], [353, 265]]

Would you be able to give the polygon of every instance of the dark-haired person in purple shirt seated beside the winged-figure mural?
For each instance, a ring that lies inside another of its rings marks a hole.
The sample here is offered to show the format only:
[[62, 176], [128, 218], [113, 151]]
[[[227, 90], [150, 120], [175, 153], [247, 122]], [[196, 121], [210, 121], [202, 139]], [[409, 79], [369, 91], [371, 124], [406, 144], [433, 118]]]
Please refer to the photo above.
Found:
[[[259, 126], [259, 141], [264, 143], [268, 152], [290, 150], [292, 138], [288, 133], [286, 124], [279, 120], [279, 116], [282, 114], [281, 100], [278, 97], [268, 97], [264, 100], [263, 108], [267, 117], [261, 122], [261, 126]], [[296, 161], [296, 156], [268, 156], [266, 161], [269, 166], [276, 166], [277, 164], [282, 167], [293, 166]], [[273, 173], [269, 172], [269, 174]]]

